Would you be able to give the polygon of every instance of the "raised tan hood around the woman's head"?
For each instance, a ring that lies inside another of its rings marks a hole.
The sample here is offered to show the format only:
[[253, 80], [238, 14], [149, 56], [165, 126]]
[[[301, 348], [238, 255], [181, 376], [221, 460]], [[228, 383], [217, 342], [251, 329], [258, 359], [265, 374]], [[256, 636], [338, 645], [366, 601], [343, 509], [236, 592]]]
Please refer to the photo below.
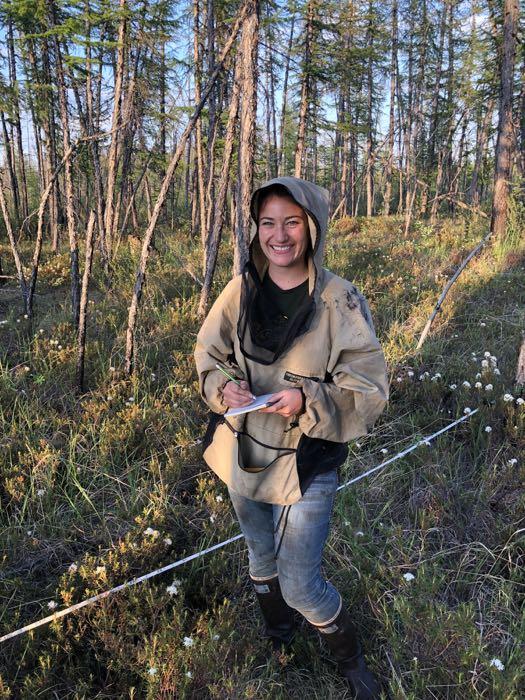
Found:
[[[252, 195], [250, 212], [253, 219], [250, 232], [250, 259], [257, 271], [262, 274], [267, 266], [267, 259], [261, 250], [257, 233], [257, 220], [259, 218], [259, 201], [262, 192], [272, 185], [282, 185], [289, 192], [292, 199], [302, 207], [308, 216], [308, 229], [312, 244], [313, 255], [309, 259], [310, 293], [320, 278], [323, 267], [324, 248], [326, 241], [326, 229], [328, 226], [328, 190], [319, 187], [313, 182], [301, 180], [299, 177], [275, 177], [263, 183]], [[318, 290], [315, 290], [318, 292]], [[314, 294], [317, 297], [317, 294]]]

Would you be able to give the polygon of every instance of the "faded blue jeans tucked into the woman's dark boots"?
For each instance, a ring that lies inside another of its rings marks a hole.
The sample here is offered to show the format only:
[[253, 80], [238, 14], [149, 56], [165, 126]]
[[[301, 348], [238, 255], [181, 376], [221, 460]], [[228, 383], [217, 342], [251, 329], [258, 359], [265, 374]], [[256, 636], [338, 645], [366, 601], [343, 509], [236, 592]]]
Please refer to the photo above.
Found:
[[248, 546], [251, 578], [256, 582], [279, 576], [285, 601], [314, 625], [331, 622], [341, 609], [337, 589], [321, 575], [337, 484], [336, 469], [318, 474], [301, 500], [289, 508], [277, 560], [286, 521], [286, 515], [280, 516], [288, 506], [253, 501], [229, 489]]

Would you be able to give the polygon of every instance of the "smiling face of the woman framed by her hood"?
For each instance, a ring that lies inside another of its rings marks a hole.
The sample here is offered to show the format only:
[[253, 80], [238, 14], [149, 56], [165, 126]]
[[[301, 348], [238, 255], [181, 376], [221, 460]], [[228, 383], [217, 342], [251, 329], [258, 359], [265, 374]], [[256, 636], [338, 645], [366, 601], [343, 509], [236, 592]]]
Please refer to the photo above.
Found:
[[259, 242], [277, 267], [304, 267], [310, 242], [308, 218], [293, 199], [270, 195], [259, 212]]

